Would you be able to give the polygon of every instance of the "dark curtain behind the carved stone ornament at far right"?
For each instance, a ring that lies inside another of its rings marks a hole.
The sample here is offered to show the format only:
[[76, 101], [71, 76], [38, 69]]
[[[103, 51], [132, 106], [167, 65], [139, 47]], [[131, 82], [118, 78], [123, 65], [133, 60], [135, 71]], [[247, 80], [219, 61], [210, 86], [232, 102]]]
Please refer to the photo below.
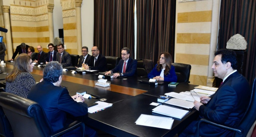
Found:
[[218, 49], [226, 48], [226, 42], [235, 34], [247, 41], [245, 77], [252, 85], [256, 77], [256, 1], [222, 0], [219, 19]]

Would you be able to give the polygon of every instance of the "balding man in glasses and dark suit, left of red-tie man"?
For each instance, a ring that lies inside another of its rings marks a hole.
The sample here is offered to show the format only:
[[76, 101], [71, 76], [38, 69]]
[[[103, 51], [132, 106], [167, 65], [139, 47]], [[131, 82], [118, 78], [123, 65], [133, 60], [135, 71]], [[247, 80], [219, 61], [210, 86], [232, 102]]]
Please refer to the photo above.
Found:
[[91, 59], [90, 62], [86, 65], [84, 64], [83, 67], [85, 67], [86, 70], [99, 70], [99, 71], [106, 71], [107, 69], [107, 61], [106, 57], [102, 54], [99, 54], [99, 48], [97, 46], [94, 46], [91, 48]]

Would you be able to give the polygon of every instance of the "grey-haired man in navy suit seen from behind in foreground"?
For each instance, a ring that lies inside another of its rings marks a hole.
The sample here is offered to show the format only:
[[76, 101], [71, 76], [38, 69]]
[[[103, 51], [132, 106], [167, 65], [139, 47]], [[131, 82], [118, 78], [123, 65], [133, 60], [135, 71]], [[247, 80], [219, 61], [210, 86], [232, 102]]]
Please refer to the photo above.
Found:
[[[43, 81], [35, 84], [27, 96], [41, 105], [54, 132], [73, 122], [67, 114], [78, 117], [88, 113], [87, 104], [83, 103], [81, 95], [71, 97], [66, 88], [60, 87], [62, 74], [61, 64], [49, 62], [43, 69]], [[87, 136], [96, 136], [96, 132], [88, 127], [85, 132]], [[65, 136], [80, 137], [81, 130], [71, 130]]]

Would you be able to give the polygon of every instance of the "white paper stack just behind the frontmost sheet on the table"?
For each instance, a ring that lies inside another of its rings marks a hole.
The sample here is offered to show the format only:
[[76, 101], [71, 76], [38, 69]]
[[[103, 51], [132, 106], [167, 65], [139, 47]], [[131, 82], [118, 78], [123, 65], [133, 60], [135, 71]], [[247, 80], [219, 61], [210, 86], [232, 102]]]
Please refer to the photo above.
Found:
[[182, 119], [189, 111], [182, 110], [182, 109], [175, 108], [175, 107], [166, 106], [166, 105], [159, 105], [159, 106], [155, 107], [152, 110], [152, 112], [158, 113], [161, 115], [171, 116], [171, 117], [178, 118], [178, 119]]

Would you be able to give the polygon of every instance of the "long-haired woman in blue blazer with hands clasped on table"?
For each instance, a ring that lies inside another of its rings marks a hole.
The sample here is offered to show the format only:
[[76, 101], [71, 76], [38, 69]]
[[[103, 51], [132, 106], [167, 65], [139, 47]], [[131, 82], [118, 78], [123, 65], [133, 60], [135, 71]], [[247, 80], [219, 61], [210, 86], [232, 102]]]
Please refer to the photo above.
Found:
[[147, 75], [150, 79], [159, 81], [177, 82], [177, 75], [172, 63], [171, 55], [167, 52], [161, 53], [153, 70]]

